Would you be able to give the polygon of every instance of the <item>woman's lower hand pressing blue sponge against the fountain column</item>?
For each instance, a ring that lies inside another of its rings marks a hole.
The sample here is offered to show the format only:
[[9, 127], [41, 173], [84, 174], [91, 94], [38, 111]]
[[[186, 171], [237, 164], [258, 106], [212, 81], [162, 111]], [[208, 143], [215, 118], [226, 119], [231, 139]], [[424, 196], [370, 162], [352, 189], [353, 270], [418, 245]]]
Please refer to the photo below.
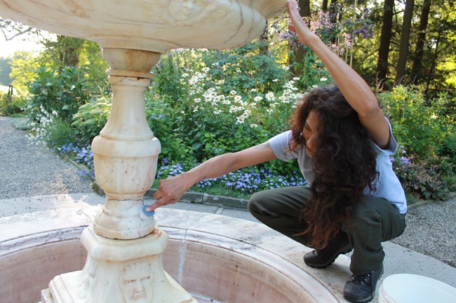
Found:
[[160, 206], [175, 204], [191, 187], [185, 185], [185, 178], [186, 174], [184, 173], [179, 176], [160, 180], [159, 189], [154, 194], [156, 202], [149, 206], [146, 211], [154, 211]]

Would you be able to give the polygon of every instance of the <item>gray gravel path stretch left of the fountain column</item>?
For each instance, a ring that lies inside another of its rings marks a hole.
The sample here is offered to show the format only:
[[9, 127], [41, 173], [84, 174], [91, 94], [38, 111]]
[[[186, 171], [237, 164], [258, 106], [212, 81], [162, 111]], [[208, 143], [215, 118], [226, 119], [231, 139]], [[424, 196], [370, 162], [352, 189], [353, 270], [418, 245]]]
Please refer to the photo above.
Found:
[[27, 131], [0, 117], [0, 199], [93, 192], [79, 169], [45, 146], [29, 145]]

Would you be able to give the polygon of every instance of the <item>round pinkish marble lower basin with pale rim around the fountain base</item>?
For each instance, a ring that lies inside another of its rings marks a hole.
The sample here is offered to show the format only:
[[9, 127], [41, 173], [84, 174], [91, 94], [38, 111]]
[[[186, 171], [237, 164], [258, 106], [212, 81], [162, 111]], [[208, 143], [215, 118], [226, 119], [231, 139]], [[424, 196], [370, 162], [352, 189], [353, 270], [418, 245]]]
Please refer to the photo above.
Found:
[[[0, 239], [2, 301], [38, 302], [54, 276], [81, 270], [87, 252], [79, 237], [98, 208], [1, 218], [9, 231]], [[164, 269], [200, 303], [345, 302], [348, 258], [325, 274], [305, 267], [309, 248], [259, 223], [177, 209], [159, 209], [156, 220], [169, 235]]]

